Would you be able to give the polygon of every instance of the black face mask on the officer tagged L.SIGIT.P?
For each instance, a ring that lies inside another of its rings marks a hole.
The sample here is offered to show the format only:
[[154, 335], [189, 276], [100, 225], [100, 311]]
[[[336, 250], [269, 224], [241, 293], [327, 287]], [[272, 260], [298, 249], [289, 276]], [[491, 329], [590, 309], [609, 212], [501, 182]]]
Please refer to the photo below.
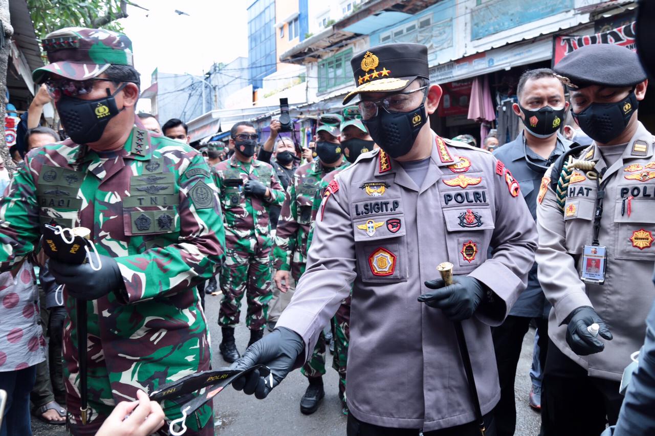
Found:
[[389, 156], [403, 156], [409, 153], [425, 124], [425, 97], [421, 105], [411, 112], [388, 113], [379, 109], [377, 117], [362, 122], [373, 141]]

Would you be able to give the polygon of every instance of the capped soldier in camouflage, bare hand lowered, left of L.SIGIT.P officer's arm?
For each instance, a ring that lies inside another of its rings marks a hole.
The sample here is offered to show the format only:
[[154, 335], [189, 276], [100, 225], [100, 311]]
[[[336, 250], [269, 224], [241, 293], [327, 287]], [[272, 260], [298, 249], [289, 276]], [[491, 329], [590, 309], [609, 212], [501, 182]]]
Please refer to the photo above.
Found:
[[[275, 236], [273, 251], [275, 284], [282, 292], [289, 291], [290, 275], [297, 282], [305, 272], [307, 263], [307, 244], [312, 223], [312, 204], [320, 181], [327, 173], [341, 166], [343, 155], [339, 143], [339, 123], [343, 117], [339, 114], [326, 114], [321, 117], [321, 124], [316, 129], [316, 153], [318, 159], [300, 166], [289, 187], [288, 196], [282, 205], [282, 213]], [[283, 283], [284, 282], [284, 283]], [[300, 401], [300, 410], [312, 414], [318, 409], [325, 396], [323, 374], [325, 369], [326, 340], [323, 333], [316, 344], [312, 358], [303, 366], [303, 374], [309, 378], [309, 387]]]

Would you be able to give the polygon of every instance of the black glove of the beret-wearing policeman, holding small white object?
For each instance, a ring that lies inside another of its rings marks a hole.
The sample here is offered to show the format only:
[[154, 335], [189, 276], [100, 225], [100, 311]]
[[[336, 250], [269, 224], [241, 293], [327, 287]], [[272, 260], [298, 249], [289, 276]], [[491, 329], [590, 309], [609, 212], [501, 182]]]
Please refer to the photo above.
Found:
[[612, 332], [605, 325], [605, 321], [590, 306], [577, 308], [567, 316], [564, 322], [568, 323], [567, 344], [577, 355], [600, 353], [605, 349], [605, 344], [587, 330], [587, 327], [593, 323], [598, 324], [600, 336], [612, 340]]

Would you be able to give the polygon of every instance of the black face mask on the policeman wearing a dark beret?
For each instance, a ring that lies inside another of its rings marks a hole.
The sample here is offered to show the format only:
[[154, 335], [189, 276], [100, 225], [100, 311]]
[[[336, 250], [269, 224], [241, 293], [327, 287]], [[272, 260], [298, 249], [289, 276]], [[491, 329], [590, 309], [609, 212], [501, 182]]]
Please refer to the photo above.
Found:
[[574, 113], [582, 132], [601, 144], [616, 139], [626, 130], [632, 114], [639, 107], [635, 90], [617, 103], [591, 103], [584, 111]]

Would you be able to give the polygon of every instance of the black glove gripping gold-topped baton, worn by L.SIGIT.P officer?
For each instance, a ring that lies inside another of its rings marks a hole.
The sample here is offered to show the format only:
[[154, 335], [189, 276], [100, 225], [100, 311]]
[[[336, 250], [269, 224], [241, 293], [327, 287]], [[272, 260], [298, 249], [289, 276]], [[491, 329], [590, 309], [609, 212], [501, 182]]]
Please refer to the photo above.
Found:
[[451, 321], [471, 318], [485, 295], [484, 285], [468, 276], [453, 278], [450, 286], [445, 286], [441, 278], [425, 282], [425, 285], [435, 291], [421, 295], [419, 301], [443, 310]]

